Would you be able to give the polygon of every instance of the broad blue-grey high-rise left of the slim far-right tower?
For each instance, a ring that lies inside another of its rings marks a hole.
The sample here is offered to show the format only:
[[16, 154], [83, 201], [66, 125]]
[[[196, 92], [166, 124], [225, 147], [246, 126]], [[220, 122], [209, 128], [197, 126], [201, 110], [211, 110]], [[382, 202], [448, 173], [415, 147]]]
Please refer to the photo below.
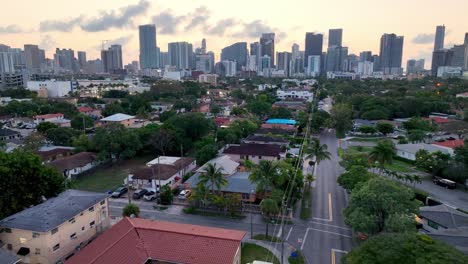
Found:
[[380, 68], [385, 75], [402, 73], [403, 36], [383, 34], [380, 38]]

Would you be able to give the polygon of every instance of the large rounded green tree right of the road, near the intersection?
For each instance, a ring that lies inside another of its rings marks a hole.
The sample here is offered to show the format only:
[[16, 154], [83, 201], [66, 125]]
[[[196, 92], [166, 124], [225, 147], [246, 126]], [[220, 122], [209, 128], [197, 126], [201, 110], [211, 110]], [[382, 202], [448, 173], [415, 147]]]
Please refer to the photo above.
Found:
[[392, 180], [375, 177], [351, 193], [344, 209], [345, 222], [366, 234], [415, 230], [419, 202], [411, 189]]

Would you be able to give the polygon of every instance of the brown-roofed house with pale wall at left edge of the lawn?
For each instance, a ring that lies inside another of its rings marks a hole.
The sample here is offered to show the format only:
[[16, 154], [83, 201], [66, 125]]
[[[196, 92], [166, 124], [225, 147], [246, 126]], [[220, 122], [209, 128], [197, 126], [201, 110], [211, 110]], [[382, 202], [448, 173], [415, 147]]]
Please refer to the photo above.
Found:
[[54, 160], [49, 165], [62, 173], [67, 179], [72, 179], [74, 176], [96, 167], [98, 164], [96, 157], [96, 154], [92, 152], [80, 152]]

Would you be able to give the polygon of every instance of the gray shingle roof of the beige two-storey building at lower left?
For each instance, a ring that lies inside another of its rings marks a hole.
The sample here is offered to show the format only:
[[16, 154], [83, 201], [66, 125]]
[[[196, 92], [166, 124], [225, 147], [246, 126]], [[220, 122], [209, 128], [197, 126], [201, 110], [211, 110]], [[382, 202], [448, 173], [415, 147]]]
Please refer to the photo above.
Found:
[[0, 226], [47, 232], [107, 197], [103, 193], [66, 190], [57, 197], [3, 219]]

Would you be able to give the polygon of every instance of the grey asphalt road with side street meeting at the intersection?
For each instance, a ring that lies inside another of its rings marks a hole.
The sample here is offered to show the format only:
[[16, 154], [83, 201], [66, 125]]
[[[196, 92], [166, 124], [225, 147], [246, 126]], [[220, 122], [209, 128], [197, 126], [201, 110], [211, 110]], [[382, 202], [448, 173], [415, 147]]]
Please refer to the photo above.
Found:
[[[284, 232], [285, 240], [295, 248], [301, 249], [307, 263], [340, 263], [341, 257], [353, 247], [352, 232], [344, 223], [342, 209], [346, 207], [347, 195], [336, 179], [343, 172], [338, 161], [338, 141], [334, 132], [326, 131], [320, 135], [322, 144], [327, 144], [331, 160], [322, 161], [316, 169], [316, 180], [312, 191], [312, 219], [294, 219], [293, 225], [270, 225], [269, 233], [279, 236]], [[112, 199], [110, 215], [119, 217], [126, 199]], [[188, 215], [182, 206], [171, 206], [166, 211], [153, 209], [151, 203], [138, 202], [140, 217], [147, 219], [229, 228], [246, 231], [250, 237], [250, 215], [244, 219], [226, 219]], [[253, 215], [254, 234], [265, 233], [266, 225], [260, 215]], [[273, 245], [272, 245], [273, 246]], [[279, 246], [277, 249], [280, 250]]]

